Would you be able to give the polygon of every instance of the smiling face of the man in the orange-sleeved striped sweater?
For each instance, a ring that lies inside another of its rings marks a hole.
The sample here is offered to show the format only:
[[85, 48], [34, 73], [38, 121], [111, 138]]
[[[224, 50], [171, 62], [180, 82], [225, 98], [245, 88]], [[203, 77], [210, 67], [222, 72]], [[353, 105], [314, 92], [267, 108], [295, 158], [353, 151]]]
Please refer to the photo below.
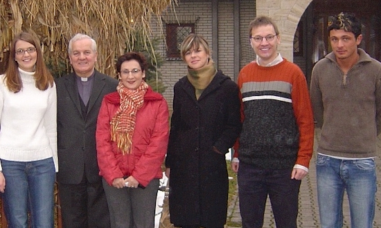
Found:
[[[251, 29], [251, 37], [268, 37], [274, 35], [276, 35], [276, 32], [274, 26], [271, 24]], [[277, 48], [278, 44], [281, 44], [281, 39], [278, 35], [275, 36], [272, 41], [267, 41], [265, 38], [260, 42], [250, 39], [250, 44], [256, 55], [260, 57], [260, 64], [266, 65], [271, 63], [278, 55]]]

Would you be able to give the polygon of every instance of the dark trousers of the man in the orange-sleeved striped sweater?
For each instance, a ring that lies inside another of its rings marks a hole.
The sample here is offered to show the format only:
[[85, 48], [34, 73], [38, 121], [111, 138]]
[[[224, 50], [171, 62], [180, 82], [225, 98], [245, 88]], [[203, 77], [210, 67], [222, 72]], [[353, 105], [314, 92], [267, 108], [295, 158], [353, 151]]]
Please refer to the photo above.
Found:
[[269, 196], [277, 228], [296, 228], [301, 180], [291, 179], [292, 169], [258, 169], [240, 162], [238, 196], [242, 228], [263, 227]]

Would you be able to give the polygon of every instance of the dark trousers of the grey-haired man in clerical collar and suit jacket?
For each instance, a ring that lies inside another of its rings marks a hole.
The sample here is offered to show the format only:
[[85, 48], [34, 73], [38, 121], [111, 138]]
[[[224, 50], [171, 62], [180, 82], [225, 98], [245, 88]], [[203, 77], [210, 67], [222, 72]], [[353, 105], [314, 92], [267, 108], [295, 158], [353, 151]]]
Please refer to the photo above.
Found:
[[80, 184], [58, 183], [58, 193], [64, 228], [109, 228], [109, 209], [102, 179]]

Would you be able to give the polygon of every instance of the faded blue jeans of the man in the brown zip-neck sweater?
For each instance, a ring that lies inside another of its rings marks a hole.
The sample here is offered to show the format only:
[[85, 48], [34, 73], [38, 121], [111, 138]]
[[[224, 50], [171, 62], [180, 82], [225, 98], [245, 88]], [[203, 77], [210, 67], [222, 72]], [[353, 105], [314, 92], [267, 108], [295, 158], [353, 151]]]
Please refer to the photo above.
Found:
[[346, 191], [352, 228], [371, 228], [377, 191], [373, 159], [341, 160], [317, 155], [317, 197], [322, 228], [343, 227]]

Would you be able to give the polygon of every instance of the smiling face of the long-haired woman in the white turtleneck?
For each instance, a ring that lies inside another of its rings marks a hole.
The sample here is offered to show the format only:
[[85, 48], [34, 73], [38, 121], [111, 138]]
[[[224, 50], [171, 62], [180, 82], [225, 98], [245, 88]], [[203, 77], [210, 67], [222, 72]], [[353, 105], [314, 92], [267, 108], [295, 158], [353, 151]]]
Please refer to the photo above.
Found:
[[[33, 72], [35, 70], [35, 64], [37, 61], [37, 51], [28, 53], [28, 48], [34, 48], [33, 44], [30, 44], [24, 40], [18, 40], [15, 44], [15, 60], [21, 70]], [[24, 50], [21, 54], [17, 54], [17, 50]]]

